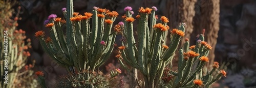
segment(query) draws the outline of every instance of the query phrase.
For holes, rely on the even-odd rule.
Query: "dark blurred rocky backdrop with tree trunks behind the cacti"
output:
[[[20,6],[18,29],[26,31],[31,39],[31,56],[35,60],[35,71],[45,71],[46,81],[53,85],[60,75],[67,74],[44,53],[35,32],[49,29],[44,21],[50,14],[63,17],[61,9],[66,7],[66,0],[20,0],[13,7],[17,12]],[[227,77],[222,78],[213,87],[256,87],[256,1],[255,0],[74,0],[74,12],[91,12],[93,7],[106,8],[119,13],[114,24],[121,21],[124,8],[131,6],[134,17],[140,7],[158,8],[158,17],[166,16],[170,28],[177,28],[180,22],[186,23],[186,35],[190,45],[195,45],[197,35],[205,29],[205,41],[213,49],[209,53],[210,62],[218,61],[227,70]],[[15,14],[15,13],[13,13]],[[135,25],[136,26],[136,25]],[[117,37],[117,46],[119,39]],[[184,43],[184,39],[182,41]],[[173,61],[174,65],[177,61]],[[115,53],[100,70],[104,73],[119,68]],[[211,67],[208,64],[207,67]],[[121,68],[121,67],[120,67]],[[175,69],[174,69],[175,70]],[[123,71],[123,76],[127,73]],[[129,80],[129,79],[127,79]]]

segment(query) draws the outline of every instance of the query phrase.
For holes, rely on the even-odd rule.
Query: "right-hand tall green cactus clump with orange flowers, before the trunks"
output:
[[[186,41],[184,49],[179,50],[178,72],[170,71],[173,76],[169,75],[162,78],[164,68],[172,62],[180,39],[185,35],[185,23],[181,23],[178,29],[174,28],[170,31],[170,41],[167,43],[165,41],[169,27],[166,24],[169,21],[165,16],[162,16],[160,18],[161,23],[156,23],[156,10],[156,7],[152,7],[152,9],[139,8],[139,15],[136,16],[139,21],[137,27],[138,41],[135,41],[134,37],[133,21],[135,19],[132,17],[131,11],[126,10],[123,16],[122,46],[119,47],[120,53],[116,57],[122,58],[129,66],[140,70],[144,76],[144,84],[139,86],[158,87],[159,82],[164,79],[165,82],[172,80],[168,87],[198,87],[202,85],[202,80],[205,86],[209,86],[219,79],[221,74],[215,79],[210,78],[211,73],[202,76],[202,68],[208,62],[207,55],[211,49],[211,46],[204,42],[203,34],[199,36],[200,40],[194,49],[189,49],[188,40]],[[122,66],[126,67],[121,59],[119,61]],[[221,72],[225,74],[224,70]],[[193,81],[197,85],[191,84]]]

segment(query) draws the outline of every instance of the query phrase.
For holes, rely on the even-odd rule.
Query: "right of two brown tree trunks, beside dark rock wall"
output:
[[[201,1],[201,22],[200,27],[205,28],[205,41],[212,46],[209,52],[209,63],[206,64],[211,69],[215,58],[215,46],[217,43],[219,22],[220,22],[220,0],[203,0]]]

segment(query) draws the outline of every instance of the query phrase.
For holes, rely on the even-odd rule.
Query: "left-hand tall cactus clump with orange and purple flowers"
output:
[[[115,31],[111,29],[118,13],[94,7],[92,13],[80,15],[73,12],[72,0],[67,1],[67,8],[62,11],[66,18],[56,18],[52,14],[45,21],[50,37],[45,40],[42,31],[36,32],[35,37],[46,53],[69,72],[94,71],[104,64],[113,50],[118,25]]]

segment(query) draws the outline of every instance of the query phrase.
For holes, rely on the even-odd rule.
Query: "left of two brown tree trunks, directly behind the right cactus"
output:
[[[193,17],[195,16],[195,3],[197,0],[172,0],[166,1],[166,12],[163,12],[163,15],[169,18],[169,27],[178,28],[181,22],[184,22],[185,25],[185,38],[190,38],[190,34],[193,32]],[[167,37],[168,38],[168,37]],[[182,44],[184,42],[181,42]]]

